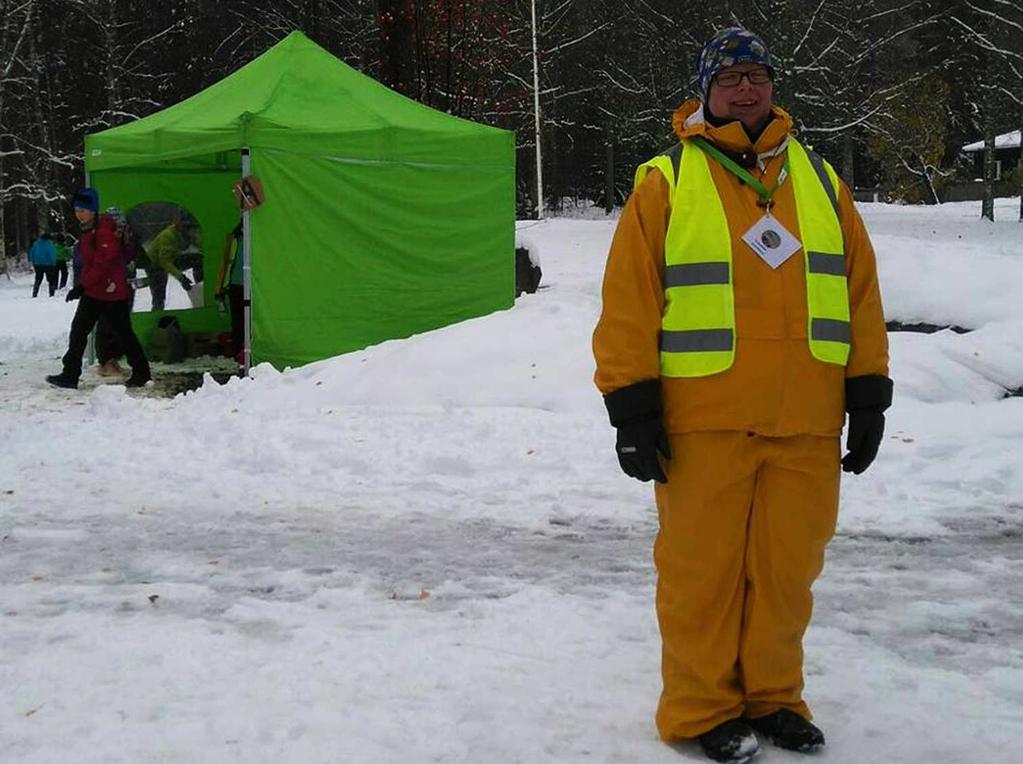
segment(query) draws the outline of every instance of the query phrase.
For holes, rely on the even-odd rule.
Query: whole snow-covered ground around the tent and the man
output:
[[[1023,759],[1016,205],[862,208],[888,317],[973,331],[892,335],[814,761]],[[703,761],[656,738],[656,515],[590,383],[613,225],[520,224],[510,311],[174,399],[43,385],[74,306],[0,276],[0,760]]]

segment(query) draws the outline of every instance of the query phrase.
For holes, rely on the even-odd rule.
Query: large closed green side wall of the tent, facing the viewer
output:
[[[256,361],[304,364],[511,306],[514,169],[255,149],[252,169],[267,194],[251,213]]]

